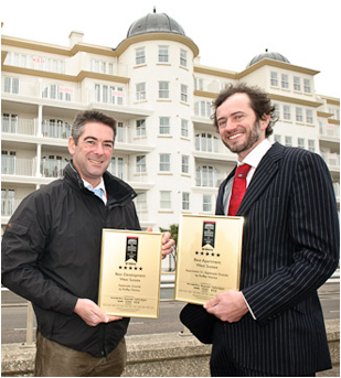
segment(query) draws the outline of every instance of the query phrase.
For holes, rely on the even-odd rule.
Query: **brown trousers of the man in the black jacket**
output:
[[[94,357],[36,336],[35,377],[119,377],[126,366],[127,348],[122,338],[107,357]]]

